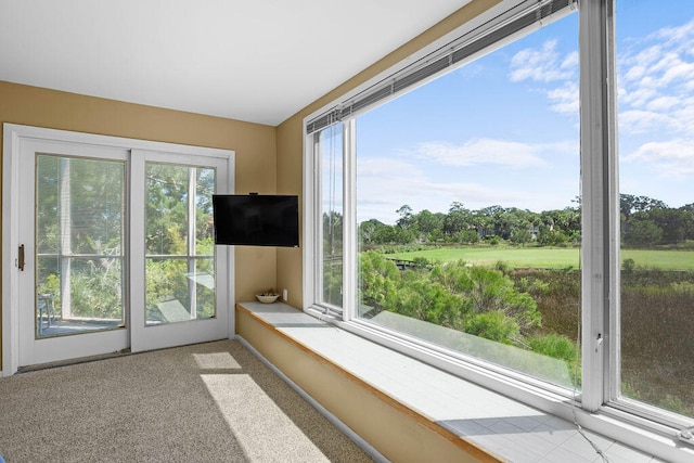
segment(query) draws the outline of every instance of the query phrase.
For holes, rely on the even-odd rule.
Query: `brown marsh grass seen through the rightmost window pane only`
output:
[[[694,272],[622,272],[622,393],[694,416]]]

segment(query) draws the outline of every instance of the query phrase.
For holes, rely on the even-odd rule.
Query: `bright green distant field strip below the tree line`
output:
[[[475,265],[493,265],[503,260],[511,267],[566,268],[579,267],[579,249],[551,247],[462,247],[388,254],[386,257],[412,260],[424,257],[429,260],[465,260]],[[621,260],[631,258],[639,267],[663,270],[694,271],[692,250],[625,249]]]

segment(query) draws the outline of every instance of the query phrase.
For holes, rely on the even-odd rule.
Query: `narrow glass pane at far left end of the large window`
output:
[[[335,124],[317,136],[321,167],[322,303],[343,307],[343,125]]]

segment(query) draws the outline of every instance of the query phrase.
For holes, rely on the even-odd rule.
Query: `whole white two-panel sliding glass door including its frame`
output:
[[[39,136],[11,132],[4,164],[11,372],[229,337],[211,197],[231,191],[231,152],[14,127]]]

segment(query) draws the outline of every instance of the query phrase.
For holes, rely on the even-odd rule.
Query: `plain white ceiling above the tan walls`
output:
[[[0,80],[275,126],[470,0],[0,0]]]

